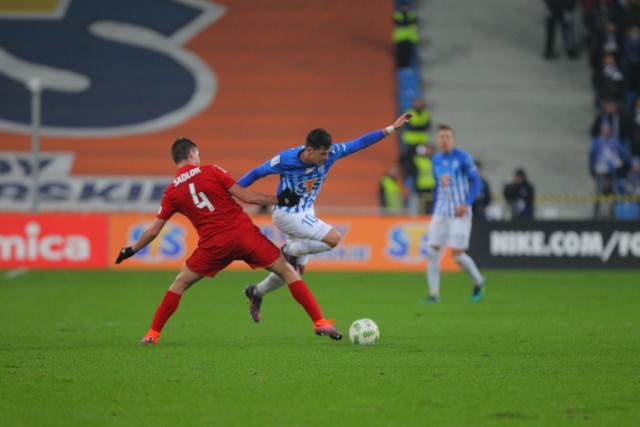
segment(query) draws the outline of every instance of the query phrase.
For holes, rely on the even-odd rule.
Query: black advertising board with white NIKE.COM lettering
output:
[[[640,223],[477,220],[469,254],[484,268],[640,269]]]

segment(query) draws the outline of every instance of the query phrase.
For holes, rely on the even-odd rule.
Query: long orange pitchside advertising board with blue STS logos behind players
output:
[[[131,245],[153,218],[153,215],[111,215],[109,256],[115,260],[120,248]],[[322,219],[338,229],[343,238],[337,248],[311,257],[309,268],[312,270],[425,269],[429,217],[322,216]],[[286,236],[273,225],[270,216],[257,216],[253,220],[277,246],[284,243]],[[193,252],[197,241],[198,236],[189,221],[176,215],[148,248],[118,268],[177,269]],[[249,267],[242,262],[235,262],[229,268]],[[449,251],[443,257],[442,269],[459,269]]]

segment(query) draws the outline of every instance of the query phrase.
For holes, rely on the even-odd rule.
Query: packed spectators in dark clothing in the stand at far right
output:
[[[589,64],[598,109],[591,128],[590,156],[596,193],[635,195],[633,169],[640,161],[635,149],[640,123],[636,105],[640,94],[640,2],[585,1],[582,13],[588,29]],[[612,148],[607,150],[607,146]],[[603,159],[609,152],[612,155],[607,157],[615,157],[615,161]],[[602,172],[604,168],[609,169],[607,173]],[[640,219],[637,202],[615,201],[606,212],[600,205],[597,200],[596,219]]]

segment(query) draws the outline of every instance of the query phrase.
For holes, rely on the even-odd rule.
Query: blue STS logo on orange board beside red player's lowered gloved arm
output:
[[[148,225],[148,223],[139,223],[129,229],[127,241],[130,245],[138,240]],[[160,235],[151,244],[136,253],[136,258],[139,261],[154,264],[164,261],[179,261],[185,253],[186,235],[187,231],[181,225],[167,222]]]

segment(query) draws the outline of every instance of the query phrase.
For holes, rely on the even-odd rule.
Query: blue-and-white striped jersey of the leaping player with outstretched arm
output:
[[[300,202],[290,208],[286,206],[277,206],[276,208],[286,212],[302,212],[313,207],[313,203],[318,193],[320,193],[320,188],[322,188],[327,173],[336,161],[356,151],[367,148],[382,138],[384,138],[384,133],[382,130],[378,130],[354,139],[353,141],[333,144],[329,152],[329,157],[320,166],[303,163],[300,160],[300,152],[304,150],[304,146],[290,148],[249,171],[238,180],[238,184],[243,187],[249,187],[260,178],[271,174],[279,174],[280,184],[278,185],[278,193],[285,188],[290,188],[300,196]]]

